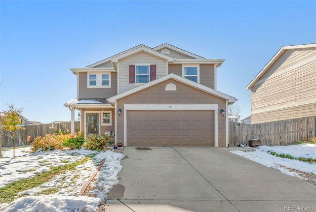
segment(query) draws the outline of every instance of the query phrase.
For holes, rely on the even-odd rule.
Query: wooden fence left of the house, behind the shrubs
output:
[[[75,121],[75,131],[79,130],[80,121]],[[27,142],[27,137],[31,137],[31,141],[37,136],[45,136],[46,134],[57,133],[59,129],[62,132],[71,129],[71,121],[65,122],[55,122],[55,123],[44,123],[44,124],[34,124],[26,125],[25,130],[18,129],[15,134],[15,146],[30,145]],[[13,133],[2,132],[1,136],[1,147],[13,147]]]

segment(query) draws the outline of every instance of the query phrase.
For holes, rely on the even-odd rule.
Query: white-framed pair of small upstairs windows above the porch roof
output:
[[[88,73],[88,88],[111,88],[111,73]]]

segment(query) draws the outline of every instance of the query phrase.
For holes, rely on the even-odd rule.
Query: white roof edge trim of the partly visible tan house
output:
[[[304,45],[293,45],[293,46],[282,46],[278,52],[273,56],[273,58],[265,65],[265,67],[257,74],[257,76],[249,83],[249,85],[246,87],[246,90],[250,90],[251,87],[253,87],[257,81],[260,80],[260,78],[268,71],[268,69],[274,64],[274,62],[277,61],[277,59],[286,51],[289,49],[302,49],[302,48],[315,48],[316,43],[312,44],[304,44]]]

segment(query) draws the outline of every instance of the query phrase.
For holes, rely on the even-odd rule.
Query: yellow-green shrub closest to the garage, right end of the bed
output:
[[[109,136],[107,135],[89,135],[86,137],[83,147],[87,150],[104,150],[109,146]]]

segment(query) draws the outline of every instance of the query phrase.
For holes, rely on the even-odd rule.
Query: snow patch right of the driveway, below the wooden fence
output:
[[[316,164],[302,162],[295,159],[281,158],[274,156],[268,151],[275,151],[278,154],[290,154],[293,157],[312,157],[316,159],[316,145],[315,144],[298,144],[298,145],[289,145],[289,146],[259,146],[256,151],[231,151],[235,154],[238,154],[247,159],[253,160],[257,163],[265,165],[267,167],[276,169],[284,174],[291,175],[297,178],[302,178],[296,172],[291,172],[286,169],[286,167],[290,169],[295,169],[298,171],[306,172],[309,174],[316,174]]]

